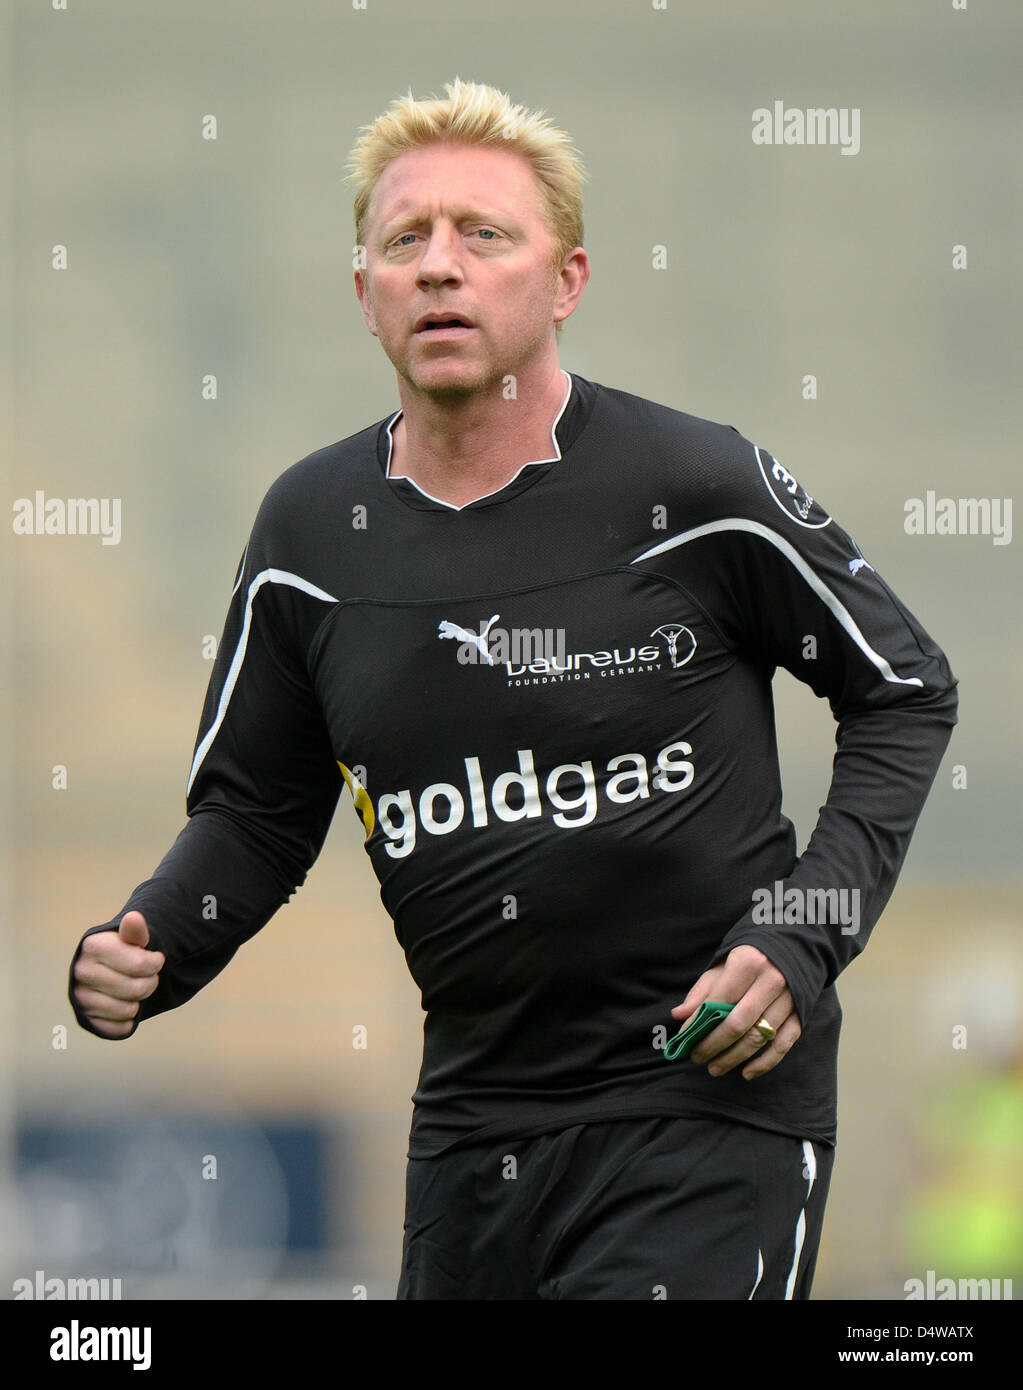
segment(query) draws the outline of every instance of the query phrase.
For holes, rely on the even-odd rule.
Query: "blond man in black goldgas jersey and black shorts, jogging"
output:
[[[399,1297],[805,1298],[834,979],[955,680],[771,455],[559,367],[589,275],[562,132],[456,81],[367,128],[353,177],[402,409],[264,499],[189,823],[83,938],[79,1022],[125,1037],[211,980],[346,784],[427,1011]],[[802,856],[778,664],[838,720]],[[669,1061],[703,1001],[733,1008]]]

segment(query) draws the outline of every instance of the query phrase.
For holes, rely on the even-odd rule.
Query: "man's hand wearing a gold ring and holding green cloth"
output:
[[[784,974],[756,947],[735,947],[721,965],[706,970],[671,1009],[671,1017],[688,1019],[705,999],[735,1005],[689,1054],[692,1062],[710,1062],[707,1072],[712,1076],[723,1076],[756,1054],[742,1070],[745,1080],[752,1081],[777,1066],[802,1033]],[[755,1027],[760,1019],[767,1019],[774,1029],[770,1042]]]

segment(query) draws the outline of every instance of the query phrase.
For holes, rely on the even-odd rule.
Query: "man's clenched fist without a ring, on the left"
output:
[[[117,931],[95,931],[82,942],[75,1004],[104,1037],[128,1037],[139,1004],[160,983],[165,958],[147,945],[149,927],[140,912],[125,912]]]

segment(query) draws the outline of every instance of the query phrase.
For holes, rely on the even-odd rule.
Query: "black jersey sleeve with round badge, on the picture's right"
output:
[[[696,524],[648,563],[669,567],[673,550],[694,546],[699,596],[728,644],[769,678],[788,670],[837,720],[831,784],[803,853],[752,895],[707,962],[758,947],[805,1024],[891,897],[956,723],[956,680],[855,541],[777,459],[738,439]]]

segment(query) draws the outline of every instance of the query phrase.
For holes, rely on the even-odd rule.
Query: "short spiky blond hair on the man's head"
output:
[[[582,181],[587,172],[578,150],[541,111],[513,106],[512,99],[482,82],[445,82],[446,100],[396,97],[361,135],[349,154],[346,182],[356,189],[356,242],[366,245],[370,200],[388,164],[407,150],[441,140],[498,145],[516,150],[532,165],[543,195],[546,222],[555,239],[555,265],[582,245]],[[560,327],[560,325],[559,325]]]

